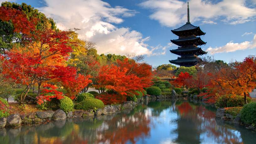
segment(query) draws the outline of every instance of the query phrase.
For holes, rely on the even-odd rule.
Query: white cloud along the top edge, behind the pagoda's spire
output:
[[[203,0],[190,0],[190,21],[212,21],[221,19],[228,24],[241,24],[251,21],[256,16],[255,8],[245,6],[246,0],[222,0],[217,3]],[[147,0],[139,4],[151,9],[151,19],[173,27],[187,20],[187,3],[180,0]]]

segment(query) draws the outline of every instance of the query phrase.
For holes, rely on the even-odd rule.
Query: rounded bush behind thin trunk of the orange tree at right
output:
[[[250,103],[251,99],[247,97],[247,102]],[[244,97],[241,95],[232,96],[227,100],[227,107],[242,107],[244,105]]]

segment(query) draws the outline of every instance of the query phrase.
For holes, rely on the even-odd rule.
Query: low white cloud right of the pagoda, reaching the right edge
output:
[[[233,41],[228,42],[224,46],[220,47],[209,47],[206,51],[209,54],[215,54],[215,53],[223,53],[223,52],[233,52],[237,50],[245,50],[245,49],[253,49],[256,48],[256,35],[253,36],[252,41],[244,41],[242,43],[234,43]]]

